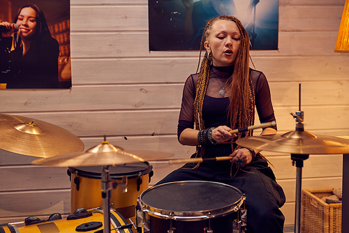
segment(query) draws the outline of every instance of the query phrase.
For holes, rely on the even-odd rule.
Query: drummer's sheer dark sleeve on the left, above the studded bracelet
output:
[[[181,112],[179,113],[177,137],[186,128],[194,128],[194,100],[198,74],[191,75],[186,79],[181,99]]]

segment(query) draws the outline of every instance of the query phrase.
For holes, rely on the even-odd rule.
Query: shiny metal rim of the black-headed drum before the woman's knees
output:
[[[209,210],[203,210],[203,211],[171,211],[168,209],[159,209],[154,206],[151,206],[147,203],[145,203],[142,200],[142,197],[146,195],[147,193],[151,192],[151,190],[155,190],[156,188],[161,188],[163,186],[170,186],[173,183],[212,183],[215,185],[225,186],[232,190],[237,191],[239,193],[240,198],[236,202],[232,204],[228,204],[226,206],[221,206],[218,209],[209,209]],[[142,206],[141,209],[144,212],[149,213],[149,215],[154,216],[156,218],[163,218],[163,219],[174,219],[174,220],[182,220],[182,221],[191,221],[191,220],[199,220],[199,219],[208,219],[208,218],[217,218],[217,217],[223,217],[227,216],[228,214],[232,212],[236,212],[240,209],[240,206],[244,203],[244,200],[246,197],[242,193],[241,190],[238,188],[235,188],[234,186],[230,186],[226,183],[220,183],[215,181],[173,181],[168,183],[162,183],[158,186],[152,186],[151,188],[147,188],[147,190],[144,190],[140,197],[138,197],[138,202]]]

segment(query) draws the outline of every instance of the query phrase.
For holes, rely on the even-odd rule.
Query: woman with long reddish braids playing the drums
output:
[[[188,180],[227,183],[246,195],[247,232],[283,232],[284,216],[279,208],[285,195],[274,173],[260,151],[234,143],[245,135],[229,133],[253,125],[255,108],[261,123],[275,120],[265,75],[249,68],[248,34],[236,17],[221,15],[210,20],[204,40],[207,52],[200,73],[190,75],[184,86],[178,138],[181,144],[197,146],[193,156],[232,156],[232,160],[188,163],[157,184]],[[276,126],[262,130],[262,135],[275,133]]]

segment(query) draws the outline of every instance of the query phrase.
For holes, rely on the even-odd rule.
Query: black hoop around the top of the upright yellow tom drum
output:
[[[135,171],[135,172],[124,172],[124,173],[111,173],[110,174],[110,179],[122,179],[124,176],[127,176],[128,179],[133,179],[139,176],[144,176],[146,174],[149,174],[151,170],[153,170],[153,166],[150,165],[149,162],[145,161],[143,162],[147,165],[147,167],[144,167],[143,170]],[[85,178],[90,178],[90,179],[101,179],[102,174],[101,173],[96,173],[96,172],[88,172],[84,170],[80,170],[77,167],[68,167],[68,170],[71,174],[75,174],[77,176],[82,176]],[[102,172],[102,169],[101,169]]]

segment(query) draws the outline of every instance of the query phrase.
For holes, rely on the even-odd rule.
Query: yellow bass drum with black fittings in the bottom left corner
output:
[[[103,229],[104,216],[103,211],[94,213],[79,214],[76,217],[68,216],[65,219],[46,221],[33,225],[0,225],[0,232],[4,233],[70,233],[70,232],[96,232]],[[117,211],[111,211],[110,229],[119,227],[121,233],[132,233],[131,225]],[[125,227],[125,228],[124,228]],[[124,228],[124,229],[121,229]]]

